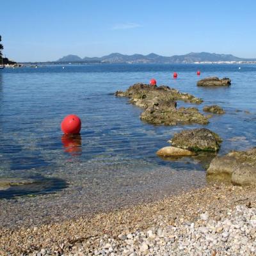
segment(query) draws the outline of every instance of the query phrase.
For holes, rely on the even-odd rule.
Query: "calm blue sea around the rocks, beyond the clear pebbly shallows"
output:
[[[200,159],[166,161],[156,151],[168,146],[174,132],[187,126],[154,126],[141,122],[141,109],[125,98],[113,95],[134,83],[154,77],[157,84],[192,93],[204,102],[196,106],[218,104],[225,115],[214,115],[205,127],[223,138],[219,154],[255,146],[256,130],[256,65],[66,65],[38,68],[5,68],[0,71],[0,179],[35,179],[44,188],[62,189],[70,180],[60,170],[65,166],[94,164],[102,170],[120,166],[127,173],[148,172],[157,166],[176,170],[204,170]],[[196,76],[196,70],[201,76]],[[172,79],[172,72],[178,79]],[[207,76],[229,77],[230,88],[200,88],[196,81]],[[179,102],[179,106],[192,106]],[[246,112],[244,112],[246,111]],[[248,113],[249,111],[249,113]],[[81,136],[64,138],[61,120],[70,113],[81,118]],[[77,167],[78,168],[78,167]],[[141,171],[142,170],[142,171]],[[69,171],[72,172],[72,171]],[[72,173],[69,173],[72,176]],[[117,174],[116,174],[117,175]],[[127,174],[129,177],[129,174]],[[56,182],[56,179],[60,179]],[[10,191],[10,189],[9,189]],[[6,197],[5,192],[0,197]],[[38,193],[42,189],[24,187],[22,193]],[[21,195],[17,193],[16,195]],[[15,195],[12,188],[10,196]]]

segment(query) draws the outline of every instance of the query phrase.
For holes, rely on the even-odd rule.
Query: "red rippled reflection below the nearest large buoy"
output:
[[[61,142],[64,152],[72,156],[80,156],[82,153],[82,138],[80,134],[63,134]]]

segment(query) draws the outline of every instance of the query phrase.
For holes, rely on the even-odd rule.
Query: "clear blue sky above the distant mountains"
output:
[[[256,58],[256,1],[1,0],[0,35],[15,61],[111,52],[216,52]]]

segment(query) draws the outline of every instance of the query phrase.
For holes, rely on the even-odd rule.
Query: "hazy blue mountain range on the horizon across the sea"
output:
[[[56,63],[195,63],[195,62],[219,62],[219,61],[256,61],[256,59],[238,58],[232,54],[216,54],[209,52],[190,52],[184,55],[173,55],[170,57],[150,53],[148,55],[133,54],[125,55],[111,53],[102,57],[84,57],[67,55]]]

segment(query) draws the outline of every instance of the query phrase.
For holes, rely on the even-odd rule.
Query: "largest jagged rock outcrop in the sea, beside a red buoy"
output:
[[[196,108],[178,108],[176,100],[200,104],[198,99],[189,93],[180,93],[168,86],[150,86],[149,84],[134,84],[125,92],[116,92],[118,97],[129,97],[130,102],[145,109],[141,120],[150,124],[207,124],[207,117]]]

